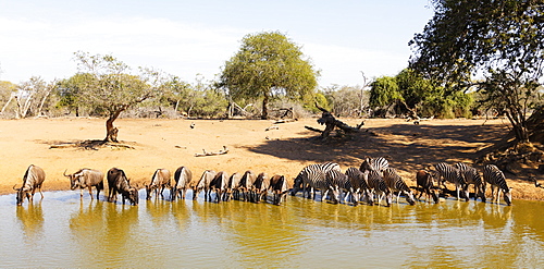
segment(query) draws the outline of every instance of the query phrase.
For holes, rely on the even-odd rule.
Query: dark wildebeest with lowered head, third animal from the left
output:
[[[128,199],[135,206],[138,205],[138,189],[131,186],[131,182],[123,170],[112,168],[108,171],[108,188],[109,201],[118,200],[118,193],[120,193],[123,198],[123,205],[125,204],[125,199]]]

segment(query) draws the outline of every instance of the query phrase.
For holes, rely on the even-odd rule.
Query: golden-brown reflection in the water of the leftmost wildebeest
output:
[[[41,201],[37,204],[29,203],[26,208],[25,206],[17,206],[16,215],[27,243],[32,243],[41,237],[44,233],[44,210],[41,209]]]

